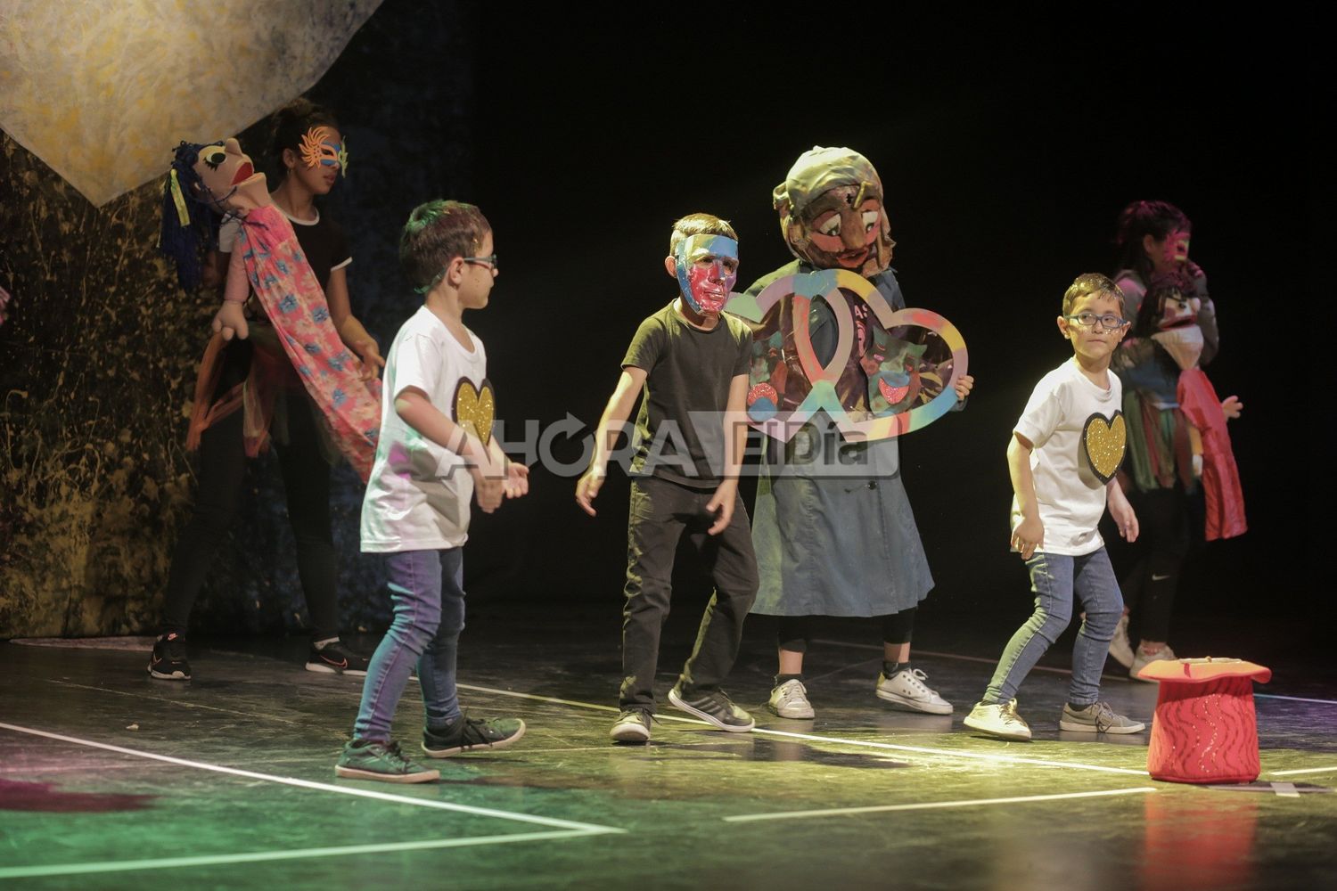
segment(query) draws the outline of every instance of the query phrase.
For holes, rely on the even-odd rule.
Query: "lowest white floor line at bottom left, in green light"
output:
[[[221,866],[227,863],[266,863],[271,860],[301,860],[310,858],[337,858],[358,854],[392,854],[397,851],[433,851],[511,842],[550,842],[579,839],[603,832],[587,830],[551,830],[548,832],[515,832],[512,835],[479,835],[464,839],[432,839],[428,842],[388,842],[385,844],[356,844],[345,848],[294,848],[291,851],[251,851],[246,854],[214,854],[191,858],[160,858],[152,860],[103,860],[100,863],[57,863],[51,866],[0,867],[0,879],[33,879],[52,875],[90,875],[98,872],[132,872],[138,870],[179,870],[185,867]]]

